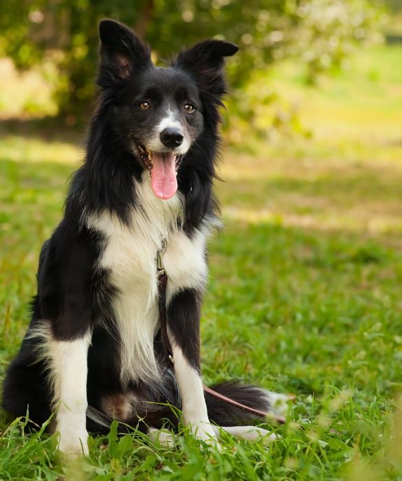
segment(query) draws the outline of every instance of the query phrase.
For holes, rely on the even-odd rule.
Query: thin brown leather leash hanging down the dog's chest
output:
[[[168,317],[166,313],[166,289],[168,286],[168,275],[166,274],[166,271],[165,271],[163,256],[166,252],[167,245],[168,245],[167,238],[162,237],[161,247],[160,249],[157,249],[157,254],[155,258],[156,269],[157,269],[159,327],[161,330],[162,343],[164,344],[166,358],[168,359],[170,365],[172,366],[172,369],[175,370],[175,360],[173,359],[172,346],[170,344],[169,337],[168,337],[168,326],[167,326]],[[281,424],[283,424],[286,421],[283,416],[278,416],[277,414],[273,414],[272,412],[260,411],[260,410],[254,409],[254,407],[249,407],[249,406],[246,406],[245,404],[238,403],[237,401],[234,401],[234,399],[230,399],[229,397],[224,396],[223,394],[220,394],[219,392],[216,392],[211,388],[208,388],[208,386],[206,385],[203,385],[203,390],[206,394],[210,394],[210,396],[213,396],[214,398],[219,399],[220,401],[223,401],[227,404],[238,407],[244,411],[249,412],[250,414],[255,414],[260,418],[271,418],[271,419],[274,419],[275,421],[278,421],[278,423],[281,423]]]

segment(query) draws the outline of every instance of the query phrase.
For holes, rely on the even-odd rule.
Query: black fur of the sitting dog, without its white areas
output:
[[[237,47],[221,41],[205,41],[181,52],[172,66],[159,69],[150,60],[150,49],[129,30],[113,21],[100,23],[99,104],[91,120],[87,154],[71,181],[63,220],[45,242],[38,268],[38,293],[32,302],[32,319],[19,354],[12,361],[3,385],[3,407],[16,416],[41,425],[51,414],[52,393],[46,381],[47,366],[38,360],[41,339],[30,336],[46,320],[54,339],[71,341],[89,330],[92,344],[88,353],[88,427],[102,431],[110,418],[102,412],[104,396],[131,390],[144,401],[168,401],[181,407],[172,374],[166,370],[161,385],[130,383],[119,378],[118,333],[113,335],[111,301],[119,293],[109,284],[109,273],[96,269],[105,240],[102,234],[82,222],[84,216],[107,210],[122,223],[137,205],[133,180],[141,180],[146,166],[134,148],[145,144],[156,118],[166,109],[166,99],[180,107],[190,100],[194,115],[179,109],[186,122],[192,145],[178,172],[178,188],[185,199],[183,230],[192,236],[205,217],[217,213],[212,193],[216,153],[219,146],[219,109],[226,92],[223,58]],[[144,99],[153,102],[153,112],[137,108]],[[156,116],[156,117],[155,117]],[[199,319],[202,289],[186,289],[168,306],[168,322],[184,355],[199,370]],[[106,320],[107,326],[100,322]],[[105,322],[105,321],[104,321]],[[112,335],[111,335],[112,334]],[[155,337],[155,353],[164,364],[160,333]],[[265,409],[266,401],[256,388],[238,384],[216,387],[233,399]],[[249,421],[241,410],[206,396],[212,421],[220,425]],[[96,415],[95,415],[95,414]],[[177,422],[166,407],[139,405],[132,419],[137,425],[159,425],[164,417]],[[100,419],[104,423],[100,423]],[[96,421],[96,419],[98,421]]]

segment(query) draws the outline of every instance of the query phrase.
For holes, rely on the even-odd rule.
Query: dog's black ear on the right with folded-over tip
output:
[[[234,43],[221,40],[205,40],[194,47],[182,50],[175,65],[189,71],[204,91],[210,91],[217,96],[225,93],[223,79],[224,58],[230,57],[238,51]]]

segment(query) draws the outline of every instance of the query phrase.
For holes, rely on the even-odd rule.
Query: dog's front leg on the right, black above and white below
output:
[[[216,433],[210,425],[201,381],[200,308],[201,293],[195,289],[180,291],[170,302],[168,327],[183,421],[197,437],[210,440],[216,438]]]

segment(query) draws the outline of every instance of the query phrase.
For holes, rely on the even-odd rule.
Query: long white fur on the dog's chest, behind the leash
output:
[[[113,311],[120,332],[124,383],[159,376],[153,339],[159,316],[155,256],[161,237],[168,239],[164,254],[168,302],[180,289],[202,289],[207,277],[205,233],[196,232],[190,239],[177,227],[182,206],[179,194],[169,201],[157,199],[147,174],[137,192],[141,207],[133,210],[129,226],[109,212],[87,219],[90,227],[106,237],[99,264],[109,269],[109,282],[118,289]]]

